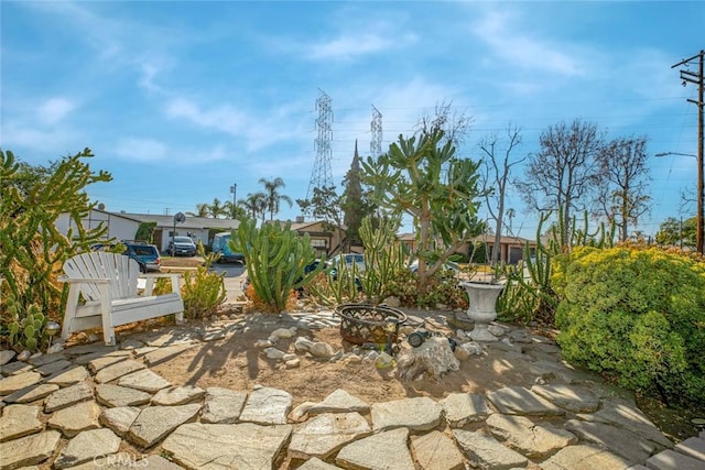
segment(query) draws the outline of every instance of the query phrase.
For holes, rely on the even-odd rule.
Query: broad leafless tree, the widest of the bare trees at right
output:
[[[563,207],[561,244],[570,243],[574,210],[590,205],[590,192],[599,174],[597,156],[604,145],[597,125],[578,119],[550,125],[539,139],[541,150],[529,156],[523,179],[514,184],[535,210]]]

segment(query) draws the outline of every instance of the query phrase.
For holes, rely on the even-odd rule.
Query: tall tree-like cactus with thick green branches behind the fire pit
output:
[[[426,292],[443,263],[482,231],[476,201],[481,197],[479,163],[456,159],[452,141],[436,127],[409,139],[399,135],[387,154],[368,157],[362,167],[364,182],[375,188],[382,208],[413,217],[419,233],[414,254],[423,261],[419,289]]]

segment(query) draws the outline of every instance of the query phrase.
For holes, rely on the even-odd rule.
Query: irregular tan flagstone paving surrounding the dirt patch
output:
[[[297,342],[310,349],[317,345],[343,367],[375,367],[364,360],[366,351],[334,351],[288,328],[338,326],[339,319],[324,310],[224,317],[213,325],[135,334],[122,341],[123,349],[101,342],[72,347],[35,354],[31,363],[6,353],[0,468],[671,470],[705,464],[705,431],[673,446],[632,400],[625,400],[629,394],[563,364],[552,340],[521,328],[498,326],[510,339],[484,348],[494,360],[542,371],[536,373],[541,384],[531,390],[507,386],[366,403],[339,389],[292,411],[293,397],[283,390],[256,385],[204,392],[172,384],[147,367],[188,354],[204,332],[227,338],[245,328],[262,331],[260,342],[270,347],[281,345],[280,337],[299,336]],[[276,335],[268,332],[276,328]],[[285,368],[304,353],[288,352],[280,372],[295,373]],[[118,452],[126,447],[139,453]]]

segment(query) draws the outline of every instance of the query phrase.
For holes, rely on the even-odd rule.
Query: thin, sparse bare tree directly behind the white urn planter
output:
[[[490,135],[480,142],[480,150],[486,159],[482,160],[484,172],[481,173],[485,201],[489,215],[495,220],[495,243],[490,261],[497,264],[501,249],[502,228],[505,221],[505,201],[507,197],[507,186],[510,183],[511,168],[522,163],[525,157],[510,161],[511,152],[521,144],[521,134],[516,127],[507,128],[507,143],[502,146],[499,138]],[[501,146],[501,149],[500,149]],[[502,153],[498,156],[497,153]],[[513,217],[513,212],[508,217]],[[510,229],[511,230],[511,229]]]

